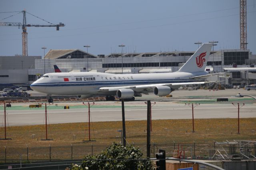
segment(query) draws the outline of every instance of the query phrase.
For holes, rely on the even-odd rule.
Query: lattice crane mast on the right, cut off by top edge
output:
[[[240,49],[247,49],[246,0],[240,0]]]

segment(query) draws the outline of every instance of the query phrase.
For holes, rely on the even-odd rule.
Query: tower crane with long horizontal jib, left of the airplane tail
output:
[[[27,24],[26,23],[26,10],[19,11],[19,13],[23,13],[23,24],[20,22],[0,22],[0,26],[18,26],[18,28],[22,27],[22,56],[28,56],[28,33],[27,33],[27,27],[56,27],[56,30],[60,30],[60,27],[64,27],[65,25],[61,22],[59,24],[52,24],[48,22],[51,25],[33,25],[33,24]],[[18,14],[19,14],[18,13]],[[30,14],[30,13],[28,13]],[[30,14],[34,16],[33,14]],[[14,15],[12,15],[14,16]],[[10,18],[11,16],[7,17]],[[39,18],[37,16],[34,16],[36,18]],[[4,18],[6,19],[6,18]],[[43,20],[42,18],[39,18]],[[46,20],[43,20],[46,21]],[[47,22],[47,21],[46,21]]]

